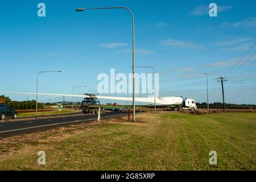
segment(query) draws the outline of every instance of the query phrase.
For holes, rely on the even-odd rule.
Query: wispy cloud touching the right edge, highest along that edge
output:
[[[256,17],[247,18],[245,20],[234,22],[234,23],[224,22],[221,24],[221,27],[245,27],[245,28],[256,27]]]

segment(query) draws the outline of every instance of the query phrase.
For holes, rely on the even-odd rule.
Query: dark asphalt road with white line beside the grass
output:
[[[127,113],[104,113],[101,114],[101,119],[113,118],[121,115],[127,115]],[[57,118],[31,119],[29,121],[2,122],[0,123],[0,138],[10,137],[17,134],[32,133],[34,131],[48,130],[54,127],[89,123],[97,118],[98,114],[83,114]]]

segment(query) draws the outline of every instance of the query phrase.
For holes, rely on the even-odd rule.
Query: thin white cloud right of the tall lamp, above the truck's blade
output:
[[[162,46],[170,46],[173,48],[203,48],[201,44],[194,43],[192,41],[184,42],[181,40],[173,40],[173,39],[167,39],[167,40],[162,40],[160,42]]]

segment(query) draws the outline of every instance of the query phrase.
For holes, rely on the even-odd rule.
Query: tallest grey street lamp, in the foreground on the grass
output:
[[[85,10],[101,10],[101,9],[125,9],[130,12],[131,18],[133,19],[133,122],[135,122],[135,78],[134,78],[134,64],[135,64],[135,44],[134,44],[134,15],[130,9],[127,7],[95,7],[95,8],[81,8],[75,11],[85,11]]]

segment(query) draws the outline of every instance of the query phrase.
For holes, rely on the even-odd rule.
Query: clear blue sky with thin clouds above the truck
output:
[[[37,15],[39,2],[46,5],[46,17]],[[208,15],[211,2],[0,1],[0,91],[35,92],[39,71],[61,70],[40,75],[39,92],[70,94],[73,86],[86,85],[75,93],[94,93],[99,73],[109,73],[110,68],[130,73],[130,14],[122,9],[75,12],[78,7],[126,6],[135,16],[135,65],[155,67],[161,96],[205,102],[206,82],[201,81],[207,72],[210,102],[222,101],[221,84],[211,79],[227,76],[226,102],[256,104],[256,64],[251,65],[256,55],[246,61],[256,46],[238,63],[256,41],[256,1],[214,1],[217,17]],[[231,73],[241,68],[229,77],[236,63]]]

